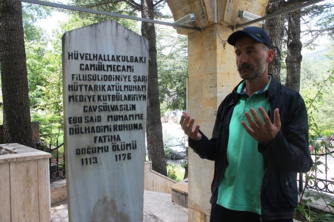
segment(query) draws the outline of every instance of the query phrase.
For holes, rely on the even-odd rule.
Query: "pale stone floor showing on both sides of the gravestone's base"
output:
[[[51,206],[51,222],[68,222],[67,201]],[[188,222],[188,209],[171,202],[171,195],[144,191],[144,222]]]

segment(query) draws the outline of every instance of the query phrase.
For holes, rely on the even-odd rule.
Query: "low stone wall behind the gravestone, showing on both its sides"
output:
[[[159,193],[171,194],[171,186],[176,181],[152,170],[152,161],[145,162],[144,190]],[[51,204],[66,200],[66,180],[51,183]]]

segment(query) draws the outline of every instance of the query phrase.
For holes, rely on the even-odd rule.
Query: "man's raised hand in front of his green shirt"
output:
[[[257,114],[254,108],[250,109],[250,112],[254,118],[251,117],[249,112],[245,112],[245,116],[249,122],[249,126],[245,121],[241,121],[241,124],[246,129],[246,131],[254,138],[256,141],[263,145],[268,145],[281,130],[281,118],[278,109],[274,111],[274,123],[271,123],[270,117],[263,107],[259,107],[259,111],[263,117],[264,123],[261,121],[260,116]]]

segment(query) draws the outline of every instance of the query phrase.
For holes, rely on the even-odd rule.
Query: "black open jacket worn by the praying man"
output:
[[[234,88],[220,104],[209,140],[202,132],[200,141],[189,138],[189,146],[201,157],[214,160],[210,203],[217,202],[218,187],[226,167],[229,124],[235,103]],[[308,142],[308,117],[299,93],[282,86],[273,77],[265,96],[270,103],[269,116],[279,108],[281,130],[268,146],[258,145],[263,154],[265,172],[261,186],[261,211],[265,220],[292,218],[298,202],[297,172],[308,172],[313,164]]]

